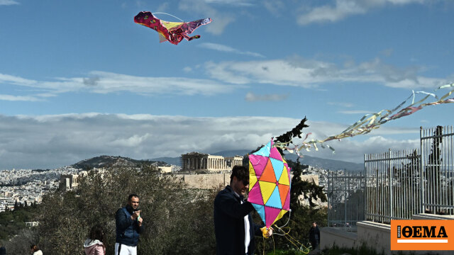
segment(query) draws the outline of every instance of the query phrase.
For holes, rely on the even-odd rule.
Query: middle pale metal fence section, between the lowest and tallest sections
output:
[[[421,210],[418,149],[366,154],[366,218],[374,222],[411,219]]]

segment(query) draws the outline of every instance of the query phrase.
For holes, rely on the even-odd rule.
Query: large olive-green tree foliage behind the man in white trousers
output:
[[[214,192],[206,196],[206,191],[184,188],[150,165],[91,172],[74,191],[43,198],[37,215],[38,246],[44,254],[84,254],[88,231],[99,223],[104,226],[107,254],[114,254],[115,212],[135,193],[145,225],[139,254],[214,254]]]

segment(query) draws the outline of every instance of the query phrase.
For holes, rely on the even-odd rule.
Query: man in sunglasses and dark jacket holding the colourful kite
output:
[[[244,201],[249,189],[249,171],[244,166],[234,166],[230,185],[218,193],[214,200],[214,232],[216,254],[254,254],[254,235],[262,235],[260,226],[250,216],[254,207]],[[272,231],[268,232],[270,236]]]

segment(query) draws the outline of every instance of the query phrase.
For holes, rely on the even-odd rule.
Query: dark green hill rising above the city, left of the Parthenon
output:
[[[120,156],[99,156],[93,157],[91,159],[84,159],[76,164],[72,164],[71,166],[77,169],[92,169],[92,168],[101,168],[107,166],[138,166],[145,162],[151,163],[155,166],[166,166],[166,162],[162,161],[150,161],[150,160],[138,160],[138,159],[130,159],[128,157],[120,157]]]

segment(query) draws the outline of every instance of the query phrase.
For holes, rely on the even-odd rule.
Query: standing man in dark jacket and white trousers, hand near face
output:
[[[128,205],[115,214],[116,239],[115,255],[136,255],[140,233],[143,232],[143,219],[140,217],[139,197],[131,194]]]

